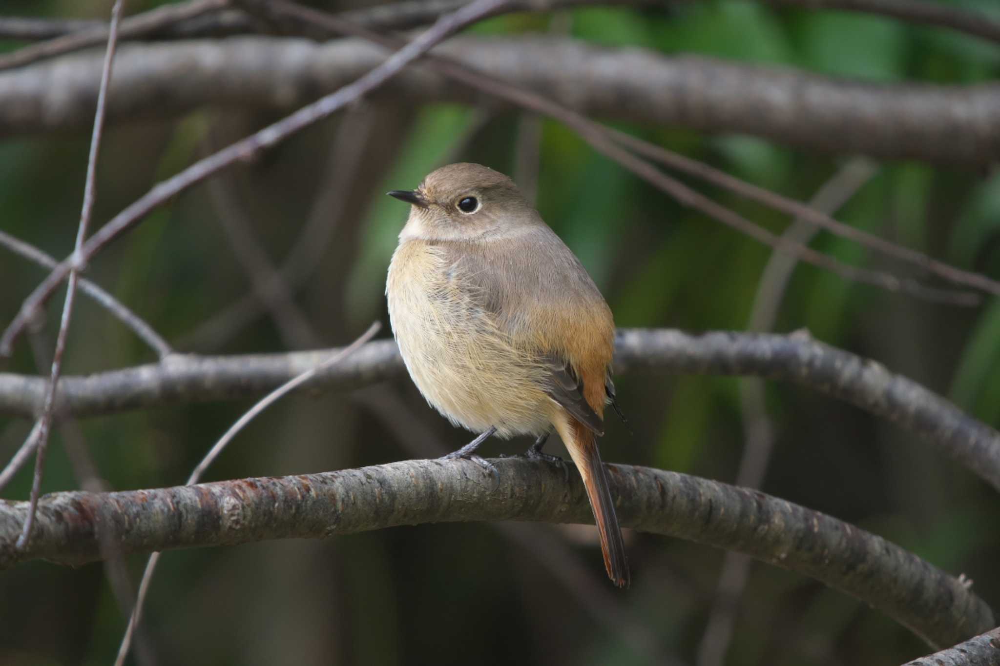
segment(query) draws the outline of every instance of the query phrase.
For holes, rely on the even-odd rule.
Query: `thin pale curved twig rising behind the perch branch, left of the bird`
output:
[[[236,422],[233,423],[228,430],[226,430],[226,433],[223,434],[217,442],[215,442],[215,445],[208,450],[205,457],[201,459],[201,462],[199,462],[194,468],[194,471],[191,472],[186,485],[194,485],[197,483],[201,479],[201,475],[205,473],[205,470],[208,469],[217,457],[219,457],[229,442],[233,440],[233,437],[235,437],[247,423],[264,411],[264,409],[267,409],[283,396],[294,390],[297,386],[300,386],[311,379],[316,375],[316,373],[336,365],[341,360],[357,351],[365,342],[370,340],[375,333],[378,333],[380,328],[381,325],[378,322],[375,322],[368,327],[368,330],[365,333],[362,333],[360,337],[348,344],[346,347],[337,351],[319,365],[311,367],[291,380],[286,381],[264,396],[264,398],[259,402],[254,404],[246,411],[246,413],[240,416]],[[146,594],[149,591],[149,584],[153,579],[153,572],[156,570],[156,563],[159,561],[159,555],[159,552],[153,553],[153,555],[149,558],[149,561],[146,562],[146,568],[142,572],[142,581],[139,583],[139,595],[136,597],[135,607],[132,610],[131,617],[129,617],[128,627],[125,629],[125,635],[122,637],[121,646],[118,648],[118,657],[115,660],[115,666],[121,666],[121,664],[124,664],[125,657],[128,656],[129,647],[132,644],[132,635],[135,633],[139,620],[142,617],[143,602],[146,600]]]

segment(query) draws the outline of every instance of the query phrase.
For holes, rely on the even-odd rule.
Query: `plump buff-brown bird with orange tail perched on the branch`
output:
[[[553,428],[583,478],[608,576],[628,585],[621,529],[597,450],[614,400],[611,310],[576,256],[509,178],[452,164],[416,190],[392,256],[386,296],[414,383],[452,423],[481,433],[449,457],[475,455],[489,436]]]

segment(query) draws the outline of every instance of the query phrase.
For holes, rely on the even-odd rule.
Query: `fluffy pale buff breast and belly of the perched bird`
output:
[[[545,367],[497,330],[491,315],[440,248],[408,241],[386,283],[389,320],[413,382],[434,408],[475,432],[541,434],[555,402]]]

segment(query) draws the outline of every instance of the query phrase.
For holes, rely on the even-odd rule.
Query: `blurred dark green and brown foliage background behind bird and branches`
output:
[[[127,9],[155,4],[132,0]],[[998,15],[993,0],[955,4]],[[53,18],[106,20],[109,9],[105,0],[0,3],[3,14]],[[958,33],[735,0],[516,14],[470,32],[549,33],[873,83],[975,84],[1000,73],[997,45]],[[22,46],[0,44],[7,51]],[[281,115],[206,108],[180,119],[111,124],[94,228],[158,180]],[[1000,278],[1000,175],[990,171],[859,162],[747,136],[615,126],[799,200],[841,178],[835,182],[846,203],[838,219]],[[88,142],[87,131],[0,141],[0,229],[66,256]],[[489,165],[536,193],[542,216],[580,257],[619,327],[750,328],[770,249],[682,208],[557,123],[488,107],[400,104],[385,95],[156,211],[104,252],[89,277],[184,351],[340,345],[376,320],[386,336],[385,273],[407,211],[384,193],[413,188],[427,172],[455,161]],[[845,169],[860,174],[850,185]],[[723,191],[702,191],[776,233],[790,222]],[[911,275],[829,235],[812,246],[845,262]],[[261,275],[261,260],[289,267],[283,275],[290,301],[268,308],[253,298],[250,276]],[[14,317],[43,276],[0,250],[0,321]],[[765,298],[776,309],[774,331],[806,328],[1000,424],[996,300],[975,308],[934,305],[808,266],[795,268],[787,290]],[[53,300],[39,333],[49,350],[61,303]],[[88,299],[78,301],[66,358],[70,374],[156,360]],[[26,341],[8,369],[37,372]],[[745,428],[761,413],[748,406],[754,400],[741,404],[740,382],[619,374],[618,397],[634,434],[609,418],[604,459],[734,482]],[[984,482],[912,433],[845,403],[779,383],[767,383],[762,395],[774,434],[766,492],[965,573],[987,602],[1000,602],[1000,501]],[[79,430],[110,486],[174,485],[250,404],[126,412],[88,418]],[[0,416],[0,458],[16,450],[29,428],[26,420]],[[409,379],[353,393],[298,395],[255,420],[206,480],[426,457],[468,438],[428,407]],[[63,433],[55,432],[45,491],[80,485],[63,443]],[[484,450],[520,452],[529,443],[492,440]],[[22,471],[4,496],[23,499],[29,488],[30,473]],[[423,525],[168,552],[150,590],[142,643],[159,664],[714,666],[718,655],[699,645],[716,605],[724,553],[676,539],[628,537],[633,584],[623,592],[605,579],[591,529],[573,526]],[[129,560],[133,585],[143,562]],[[123,629],[100,564],[32,562],[0,575],[2,664],[111,663]],[[732,610],[725,663],[888,665],[927,651],[862,603],[753,563]]]

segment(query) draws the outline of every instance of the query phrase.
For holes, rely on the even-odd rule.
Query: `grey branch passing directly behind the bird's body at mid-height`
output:
[[[59,382],[57,410],[77,417],[259,395],[320,363],[330,350],[233,356],[173,355]],[[880,363],[807,334],[703,333],[630,329],[618,333],[616,370],[761,376],[846,400],[935,444],[1000,489],[1000,433],[940,395]],[[405,373],[392,340],[369,342],[318,375],[311,389],[346,389]],[[33,416],[43,377],[0,373],[0,413]]]

